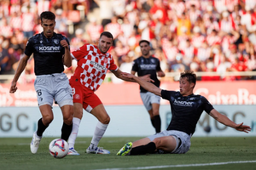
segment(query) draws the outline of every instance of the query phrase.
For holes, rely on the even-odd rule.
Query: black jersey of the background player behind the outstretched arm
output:
[[[148,59],[143,56],[135,59],[132,64],[131,71],[137,71],[137,76],[142,77],[150,74],[150,78],[154,80],[154,85],[160,87],[160,81],[157,78],[156,72],[160,71],[160,60],[150,56]],[[141,93],[148,92],[146,89],[140,86]]]

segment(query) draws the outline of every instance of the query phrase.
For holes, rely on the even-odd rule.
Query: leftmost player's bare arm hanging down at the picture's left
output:
[[[29,59],[29,56],[27,56],[26,54],[20,59],[19,65],[17,67],[17,70],[15,71],[15,77],[11,83],[11,87],[9,88],[9,93],[14,94],[17,90],[17,82],[19,80],[20,74],[22,73],[22,71],[24,71],[26,64],[27,64],[27,60]]]

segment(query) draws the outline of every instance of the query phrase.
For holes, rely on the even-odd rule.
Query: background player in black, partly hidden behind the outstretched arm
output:
[[[139,42],[142,56],[133,61],[131,68],[131,74],[144,79],[154,80],[154,85],[160,87],[160,81],[157,77],[165,77],[166,74],[160,68],[160,60],[150,55],[150,42],[147,40],[141,40]],[[160,96],[148,92],[145,88],[140,86],[140,95],[143,100],[143,105],[147,109],[151,123],[156,133],[160,133],[161,121],[160,121]]]

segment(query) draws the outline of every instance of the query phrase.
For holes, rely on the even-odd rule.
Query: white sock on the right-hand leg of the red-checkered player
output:
[[[98,146],[107,127],[108,127],[108,124],[102,124],[102,122],[97,123],[95,131],[94,131],[94,135],[90,142],[90,149],[95,149]]]

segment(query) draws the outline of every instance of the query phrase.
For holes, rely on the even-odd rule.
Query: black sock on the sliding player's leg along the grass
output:
[[[155,146],[154,142],[149,142],[148,144],[132,148],[130,155],[136,156],[136,155],[151,154],[151,153],[154,153],[155,149],[156,149],[156,146]]]

